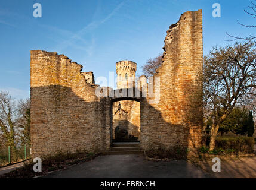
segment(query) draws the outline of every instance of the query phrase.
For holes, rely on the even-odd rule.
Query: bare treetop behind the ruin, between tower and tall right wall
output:
[[[146,64],[141,66],[142,72],[146,77],[153,76],[153,74],[156,73],[156,69],[158,69],[159,66],[162,65],[162,56],[163,54],[160,53],[159,56],[148,59]]]

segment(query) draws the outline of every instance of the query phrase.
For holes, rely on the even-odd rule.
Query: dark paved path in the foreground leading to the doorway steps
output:
[[[149,161],[143,155],[106,155],[44,178],[207,178],[199,167],[184,160]]]

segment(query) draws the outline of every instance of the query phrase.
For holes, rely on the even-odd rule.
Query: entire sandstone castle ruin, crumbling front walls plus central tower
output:
[[[138,137],[141,150],[200,147],[202,100],[192,100],[202,90],[202,84],[197,82],[202,47],[202,11],[188,11],[169,27],[163,62],[153,80],[147,82],[141,77],[134,87],[135,62],[117,62],[117,91],[137,89],[139,97],[120,97],[116,93],[110,96],[116,90],[109,87],[107,96],[98,97],[100,86],[94,84],[92,72],[82,72],[82,65],[67,56],[32,50],[32,157],[110,150],[115,131],[120,128],[127,130],[128,137]],[[148,95],[150,89],[159,94],[158,101],[152,101],[156,97]],[[124,130],[119,135],[128,138]]]

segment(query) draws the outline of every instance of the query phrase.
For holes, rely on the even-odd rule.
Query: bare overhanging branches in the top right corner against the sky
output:
[[[255,1],[256,2],[256,1]],[[246,14],[249,14],[251,15],[253,18],[256,18],[256,3],[252,2],[251,1],[251,6],[248,6],[248,8],[250,9],[250,11],[246,11],[246,10],[243,10],[246,12]],[[237,21],[238,24],[242,25],[242,26],[245,26],[245,27],[248,27],[248,28],[253,28],[253,27],[256,27],[256,25],[245,25],[245,24],[242,24],[240,23],[239,21]],[[256,36],[254,35],[250,35],[249,37],[240,37],[240,36],[233,36],[229,33],[226,32],[226,34],[229,36],[229,37],[232,37],[233,39],[232,40],[227,40],[227,41],[233,41],[233,40],[239,40],[239,39],[242,39],[242,40],[252,40],[252,39],[256,39]]]

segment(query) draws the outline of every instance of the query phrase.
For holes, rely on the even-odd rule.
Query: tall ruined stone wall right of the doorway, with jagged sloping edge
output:
[[[141,147],[198,148],[202,138],[202,11],[188,11],[167,31],[160,77],[160,100],[141,102]],[[199,97],[199,98],[197,98]]]

